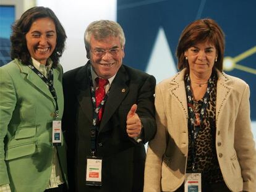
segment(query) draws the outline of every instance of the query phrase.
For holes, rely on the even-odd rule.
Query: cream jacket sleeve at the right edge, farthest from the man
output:
[[[250,122],[250,90],[246,85],[235,122],[234,148],[244,180],[243,191],[256,189],[256,151]]]

